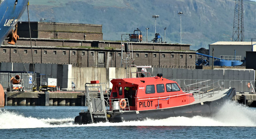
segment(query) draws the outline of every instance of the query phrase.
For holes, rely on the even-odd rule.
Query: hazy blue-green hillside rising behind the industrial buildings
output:
[[[182,43],[192,44],[192,50],[217,41],[232,40],[234,0],[33,0],[30,1],[30,20],[40,18],[56,22],[102,24],[104,40],[120,40],[121,34],[142,31],[146,40],[154,38],[156,32],[166,42],[180,42],[180,16],[182,11]],[[256,38],[254,24],[256,2],[244,0],[245,41]],[[22,16],[27,21],[27,13]]]

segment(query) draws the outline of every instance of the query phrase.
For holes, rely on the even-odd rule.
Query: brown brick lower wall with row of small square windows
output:
[[[32,63],[30,46],[19,46],[24,63]],[[105,67],[120,67],[121,50],[33,46],[34,63],[72,64],[74,67],[98,67],[98,53],[105,55]],[[133,64],[162,68],[195,68],[195,52],[134,50]],[[123,56],[125,57],[125,56]],[[21,62],[15,46],[0,48],[0,62]],[[125,66],[125,64],[123,63]]]

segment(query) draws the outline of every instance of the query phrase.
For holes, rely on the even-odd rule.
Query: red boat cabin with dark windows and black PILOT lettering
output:
[[[194,102],[194,96],[184,93],[176,81],[158,77],[112,79],[110,109],[119,101],[123,110],[149,110],[176,107]],[[128,102],[126,102],[128,101]]]

